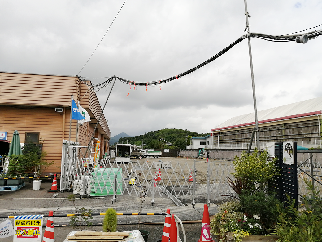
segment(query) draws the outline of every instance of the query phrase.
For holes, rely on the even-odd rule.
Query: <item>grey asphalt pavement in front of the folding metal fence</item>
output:
[[[43,181],[40,190],[33,190],[33,185],[28,181],[25,186],[17,191],[1,191],[0,192],[0,223],[5,221],[8,216],[14,215],[44,215],[47,216],[52,210],[54,214],[54,232],[55,241],[62,242],[68,234],[75,230],[66,226],[70,221],[70,217],[55,217],[67,214],[75,214],[75,208],[71,201],[68,201],[69,192],[48,193],[51,183]],[[201,189],[204,190],[204,189]],[[198,192],[196,192],[198,194]],[[205,194],[198,196],[205,197]],[[112,196],[107,197],[90,197],[80,199],[79,195],[75,195],[76,207],[85,207],[92,209],[92,213],[105,213],[106,209],[113,207],[117,213],[138,213],[141,205],[139,197],[118,196],[118,199],[112,204]],[[198,200],[198,199],[196,199]],[[204,199],[199,199],[204,200]],[[164,197],[155,197],[155,203],[152,205],[151,197],[146,197],[142,204],[141,213],[166,213],[170,209],[171,214],[175,214],[184,223],[185,234],[188,242],[195,242],[200,238],[201,221],[204,213],[204,203],[196,203],[194,207],[190,203],[186,206],[176,206],[172,200]],[[212,217],[217,212],[217,206],[211,204],[208,207],[209,215]],[[6,218],[5,218],[6,217]],[[86,230],[101,231],[104,216],[94,216],[93,225]],[[11,219],[13,222],[13,219]],[[140,217],[139,229],[149,231],[148,242],[154,242],[161,239],[163,231],[163,223],[165,216],[163,215],[142,215]],[[185,222],[187,221],[187,222]],[[45,226],[47,218],[43,219]],[[128,231],[137,229],[137,215],[118,215],[118,231]],[[44,233],[43,228],[43,233]],[[180,231],[182,231],[180,229]],[[182,232],[180,238],[183,241]],[[13,236],[2,238],[2,242],[13,242]]]

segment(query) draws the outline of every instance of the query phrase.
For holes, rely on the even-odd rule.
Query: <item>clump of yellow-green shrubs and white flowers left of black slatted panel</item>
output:
[[[223,241],[276,241],[270,234],[277,223],[276,204],[281,203],[268,191],[272,177],[278,174],[275,160],[267,160],[267,152],[258,155],[257,149],[252,154],[245,151],[233,161],[234,179],[227,179],[236,192],[234,199],[219,206],[218,213],[211,221],[213,235]]]

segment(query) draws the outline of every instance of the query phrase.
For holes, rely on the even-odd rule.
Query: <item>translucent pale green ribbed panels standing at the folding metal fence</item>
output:
[[[93,169],[91,175],[94,185],[90,190],[90,196],[100,197],[113,195],[114,187],[112,186],[114,185],[115,175],[117,175],[117,187],[119,185],[116,194],[122,194],[122,168],[96,168]]]

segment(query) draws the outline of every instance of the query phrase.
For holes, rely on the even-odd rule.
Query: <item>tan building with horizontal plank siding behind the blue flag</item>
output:
[[[78,142],[87,146],[101,107],[91,82],[77,76],[54,76],[0,72],[0,132],[7,132],[0,139],[0,155],[8,153],[14,130],[20,142],[43,143],[46,160],[54,161],[47,172],[60,173],[62,142],[69,140],[71,95],[90,114],[91,121],[79,126]],[[71,121],[71,141],[76,139],[77,120]],[[110,131],[102,115],[95,138],[100,142],[100,157],[108,152]]]

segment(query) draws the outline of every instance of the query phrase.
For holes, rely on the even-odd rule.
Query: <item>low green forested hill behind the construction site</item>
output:
[[[143,146],[144,148],[150,149],[186,149],[186,145],[190,145],[190,139],[192,137],[204,137],[208,134],[198,134],[196,132],[191,132],[183,129],[176,128],[165,128],[156,131],[150,131],[144,135],[134,136],[134,137],[123,137],[118,140],[118,143],[132,144],[137,146]],[[161,140],[165,139],[167,142],[172,143],[172,146],[166,145],[166,143]]]

